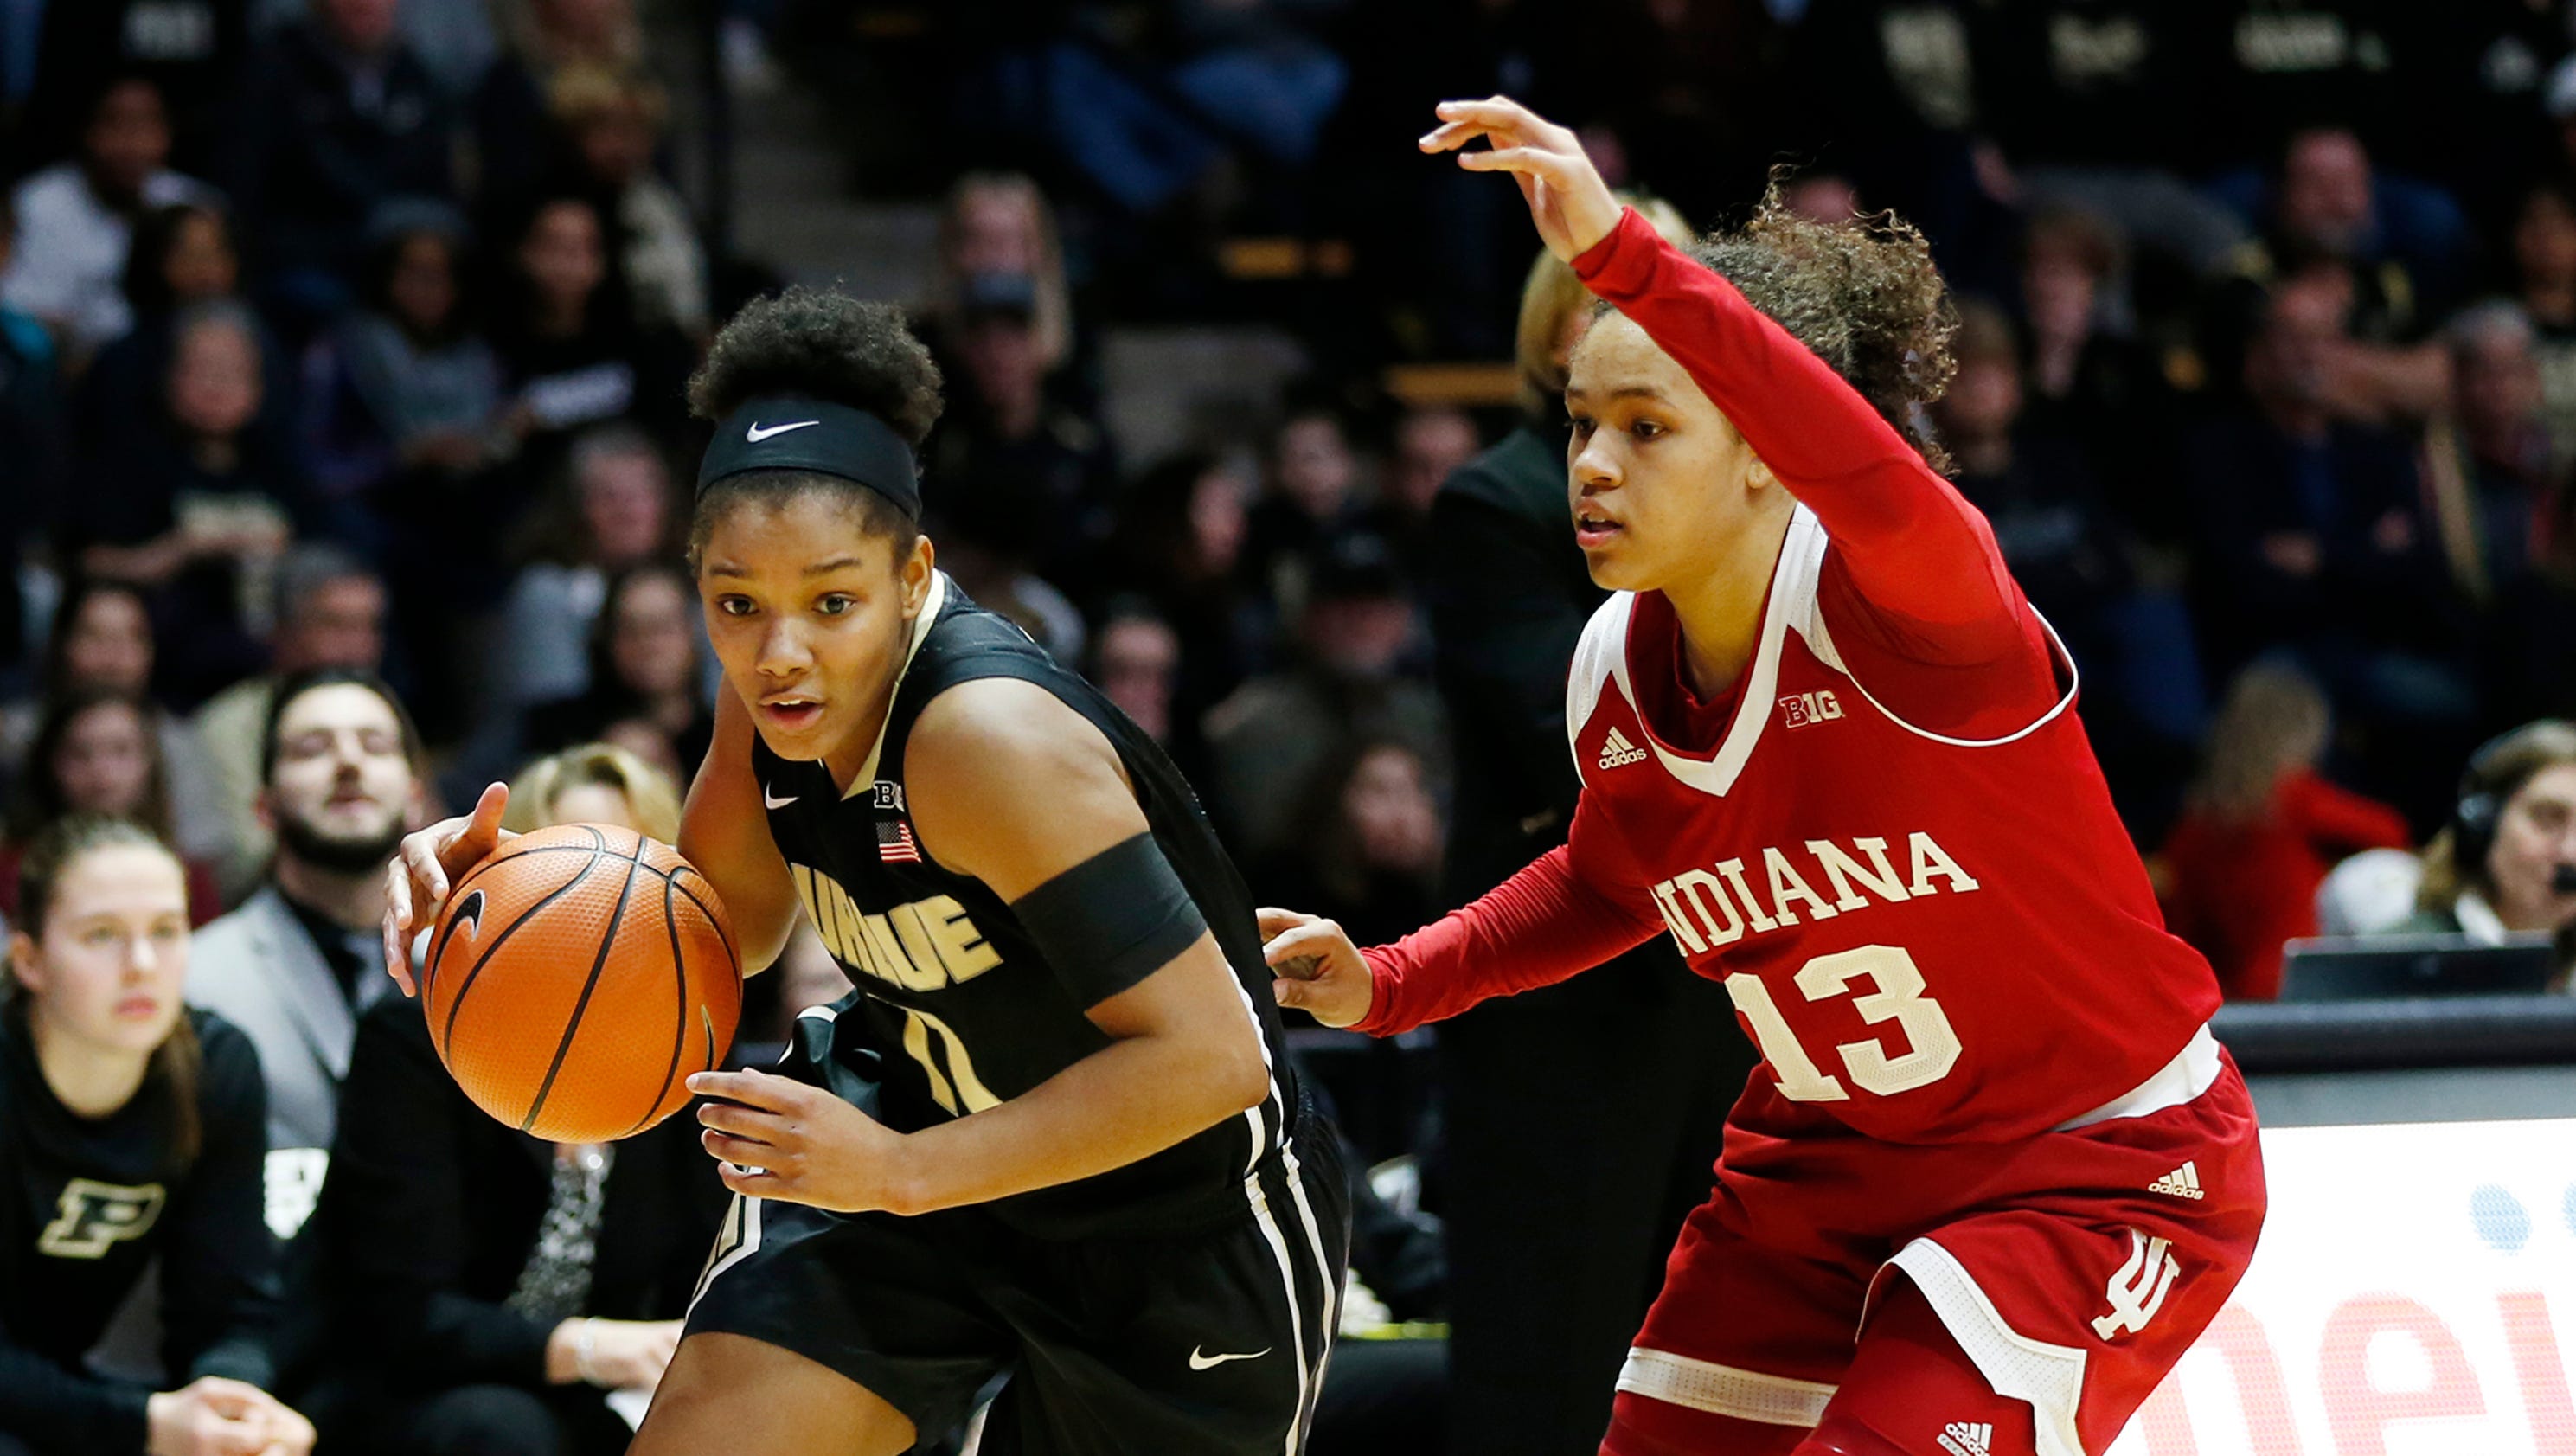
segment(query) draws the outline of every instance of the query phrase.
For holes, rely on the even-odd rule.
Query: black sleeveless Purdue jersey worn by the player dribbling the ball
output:
[[[770,838],[796,876],[796,897],[858,984],[835,1008],[835,1054],[873,1051],[876,1113],[896,1131],[917,1131],[1018,1098],[1110,1044],[1084,1010],[1126,984],[1105,984],[1092,966],[1051,964],[1002,897],[938,866],[912,832],[904,740],[930,698],[976,678],[1036,683],[1110,740],[1154,843],[1234,966],[1270,1064],[1270,1095],[1244,1116],[1126,1167],[989,1209],[1025,1232],[1061,1237],[1239,1216],[1244,1178],[1275,1154],[1298,1116],[1252,894],[1154,740],[945,575],[933,580],[884,734],[848,794],[822,763],[788,763],[752,745]]]

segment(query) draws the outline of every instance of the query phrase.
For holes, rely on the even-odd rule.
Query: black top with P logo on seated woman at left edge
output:
[[[198,1154],[170,1167],[170,1106],[147,1082],[82,1118],[36,1067],[26,1010],[0,1010],[0,1430],[39,1451],[142,1451],[144,1389],[82,1374],[82,1355],[155,1258],[165,1363],[270,1384],[276,1245],[263,1219],[268,1098],[250,1039],[191,1010]]]

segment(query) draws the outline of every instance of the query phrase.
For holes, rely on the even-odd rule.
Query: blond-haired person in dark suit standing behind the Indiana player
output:
[[[1458,750],[1448,894],[1461,905],[1564,843],[1574,817],[1566,667],[1602,590],[1574,546],[1558,397],[1569,325],[1589,302],[1566,265],[1538,258],[1520,317],[1525,420],[1432,500],[1432,642]],[[1628,1340],[1682,1214],[1708,1198],[1752,1064],[1726,992],[1664,938],[1440,1023],[1450,1451],[1600,1446]]]

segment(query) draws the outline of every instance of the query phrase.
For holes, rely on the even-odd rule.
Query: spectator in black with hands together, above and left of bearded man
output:
[[[196,704],[263,662],[268,582],[304,487],[265,425],[258,320],[198,304],[170,338],[160,410],[88,461],[64,539],[85,572],[152,590],[162,691]]]

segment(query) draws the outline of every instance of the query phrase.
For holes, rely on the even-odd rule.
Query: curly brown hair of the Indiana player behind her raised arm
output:
[[[1950,474],[1950,451],[1922,412],[1958,371],[1958,304],[1932,245],[1893,211],[1850,222],[1795,214],[1780,201],[1783,180],[1772,173],[1752,219],[1698,240],[1690,258],[1832,366],[1924,464]]]

